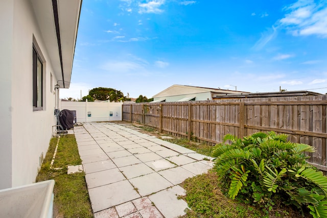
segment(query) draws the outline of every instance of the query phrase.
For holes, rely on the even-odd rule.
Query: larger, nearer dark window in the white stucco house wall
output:
[[[43,62],[33,46],[33,111],[43,110]]]

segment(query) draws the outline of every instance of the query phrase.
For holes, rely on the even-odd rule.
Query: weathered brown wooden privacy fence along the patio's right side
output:
[[[315,147],[309,162],[327,171],[327,95],[123,105],[123,120],[189,139],[218,143],[226,134],[289,134]]]

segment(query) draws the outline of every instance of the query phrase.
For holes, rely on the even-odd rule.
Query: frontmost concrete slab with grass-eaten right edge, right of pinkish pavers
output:
[[[189,208],[186,202],[177,199],[178,196],[184,195],[185,190],[176,185],[149,196],[149,199],[154,202],[155,206],[165,217],[178,217],[184,215],[184,210]]]

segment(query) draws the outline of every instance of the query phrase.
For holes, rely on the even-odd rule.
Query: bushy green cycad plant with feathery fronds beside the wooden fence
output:
[[[315,152],[314,148],[287,138],[275,132],[243,139],[226,135],[213,151],[219,179],[231,199],[267,209],[294,205],[310,209],[313,217],[327,217],[327,177],[306,162],[305,152]]]

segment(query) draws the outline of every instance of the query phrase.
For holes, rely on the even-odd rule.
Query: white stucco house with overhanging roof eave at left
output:
[[[69,88],[81,0],[2,0],[0,189],[35,182]]]

